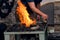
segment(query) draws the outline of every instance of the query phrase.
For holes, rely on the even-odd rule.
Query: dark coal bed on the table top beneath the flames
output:
[[[24,25],[15,24],[10,28],[7,28],[7,32],[24,32],[24,31],[43,31],[45,29],[46,23],[37,22],[36,25],[31,25],[29,28],[26,28]],[[38,29],[31,30],[31,27],[39,27]]]

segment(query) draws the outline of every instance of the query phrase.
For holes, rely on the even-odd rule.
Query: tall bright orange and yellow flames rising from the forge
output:
[[[29,16],[28,11],[26,10],[26,6],[18,0],[17,2],[17,15],[19,16],[19,20],[21,21],[21,24],[25,24],[26,27],[30,27],[30,25],[35,25],[36,20],[32,20]]]

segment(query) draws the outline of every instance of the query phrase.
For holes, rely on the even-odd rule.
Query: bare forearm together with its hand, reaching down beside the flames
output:
[[[28,2],[29,7],[32,9],[32,11],[36,12],[37,14],[41,15],[43,19],[47,19],[48,16],[44,14],[42,11],[40,11],[34,4],[34,2]]]

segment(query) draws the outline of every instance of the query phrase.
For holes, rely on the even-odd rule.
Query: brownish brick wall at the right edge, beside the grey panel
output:
[[[54,3],[54,23],[55,31],[60,31],[60,2]]]

